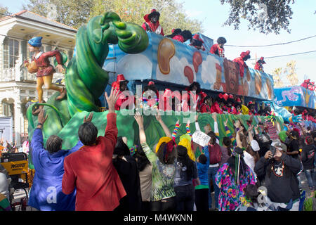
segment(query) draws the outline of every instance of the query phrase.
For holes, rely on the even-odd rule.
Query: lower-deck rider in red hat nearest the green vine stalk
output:
[[[133,108],[134,96],[129,93],[129,89],[127,87],[128,83],[129,81],[126,80],[122,74],[117,75],[117,81],[112,83],[112,87],[119,89],[119,99],[115,104],[115,110]]]

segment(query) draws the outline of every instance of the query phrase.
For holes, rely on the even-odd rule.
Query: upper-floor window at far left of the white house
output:
[[[14,68],[15,60],[19,58],[20,42],[11,39],[4,39],[4,68]]]

